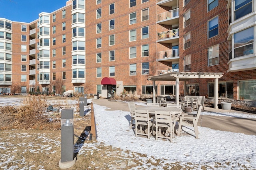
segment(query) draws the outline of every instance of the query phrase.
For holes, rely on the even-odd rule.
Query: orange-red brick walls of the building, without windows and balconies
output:
[[[161,0],[159,0],[161,2]],[[109,14],[109,5],[114,3],[114,14]],[[110,77],[110,66],[115,66],[115,76],[113,78],[117,82],[122,82],[124,87],[136,86],[138,94],[142,94],[142,86],[152,86],[152,81],[148,81],[148,76],[158,74],[159,70],[167,70],[174,63],[179,64],[180,72],[184,71],[184,57],[191,55],[191,63],[189,72],[223,72],[223,77],[219,82],[233,83],[233,99],[239,100],[239,80],[255,80],[256,72],[253,70],[244,70],[237,72],[228,72],[229,66],[229,9],[227,9],[228,1],[218,1],[218,6],[208,11],[208,2],[202,0],[193,0],[184,6],[184,0],[179,0],[178,4],[168,6],[158,4],[155,0],[149,0],[142,3],[141,0],[136,1],[136,6],[130,7],[128,0],[104,0],[100,4],[96,1],[85,1],[85,83],[72,83],[72,0],[68,1],[66,6],[50,13],[50,83],[40,84],[37,81],[37,75],[40,70],[37,69],[37,43],[39,39],[37,33],[39,29],[37,22],[20,23],[12,22],[12,85],[1,84],[1,87],[11,87],[11,93],[20,93],[20,87],[26,86],[27,92],[30,88],[38,87],[40,91],[42,87],[47,87],[52,92],[52,87],[56,86],[56,93],[62,94],[62,86],[66,90],[74,90],[74,87],[84,87],[84,93],[94,94],[97,92],[97,85],[101,83],[102,78]],[[96,19],[96,10],[101,8],[101,18]],[[149,19],[142,21],[142,10],[149,11]],[[158,22],[158,15],[179,10],[179,20],[177,23],[161,23]],[[66,17],[62,18],[62,11],[66,11]],[[184,27],[184,13],[190,10],[190,24]],[[79,10],[78,10],[79,12]],[[136,23],[130,24],[130,14],[136,12]],[[56,21],[52,21],[52,16],[56,15]],[[208,39],[208,21],[218,16],[218,35]],[[114,29],[109,29],[110,20],[115,20]],[[62,23],[66,23],[66,29],[62,30]],[[101,33],[97,33],[96,25],[101,23]],[[27,25],[27,31],[21,31],[21,25]],[[79,24],[78,24],[79,25]],[[56,27],[56,33],[53,33],[53,26]],[[142,27],[149,28],[148,38],[142,39]],[[178,28],[179,38],[174,41],[158,41],[159,35],[166,31],[172,31]],[[30,30],[36,29],[35,34],[30,34]],[[136,41],[130,41],[130,30],[136,29]],[[190,47],[184,49],[183,37],[190,32]],[[160,34],[159,34],[160,33]],[[26,42],[21,42],[21,35],[27,36]],[[62,43],[62,35],[66,35],[66,42]],[[109,45],[109,36],[114,35],[114,45]],[[56,45],[52,44],[52,39],[56,38]],[[96,39],[102,39],[102,47],[96,47]],[[35,44],[30,44],[29,40],[35,39]],[[149,56],[142,57],[142,45],[149,45]],[[21,45],[27,45],[27,51],[21,52]],[[208,66],[208,48],[219,45],[218,64]],[[178,46],[179,58],[159,59],[158,55],[161,51],[172,50],[172,47]],[[66,47],[66,54],[62,55],[62,48]],[[136,47],[136,58],[130,59],[130,47]],[[35,49],[35,55],[29,55],[31,49]],[[52,50],[56,50],[56,57],[52,57]],[[115,51],[114,61],[109,60],[110,51]],[[96,62],[96,54],[101,53],[102,61]],[[21,55],[27,55],[27,61],[21,61]],[[31,60],[36,59],[36,64],[30,64]],[[66,59],[66,67],[62,67],[62,60]],[[56,62],[56,68],[52,67],[53,61]],[[149,73],[142,74],[142,63],[149,63]],[[136,64],[136,75],[130,76],[130,64]],[[26,65],[26,72],[21,72],[21,65]],[[74,65],[73,65],[74,67]],[[97,77],[97,68],[102,68],[102,76]],[[35,74],[29,74],[30,70],[35,69]],[[66,79],[62,79],[62,73],[66,72]],[[56,80],[52,80],[53,73],[56,74]],[[21,82],[21,75],[27,75],[27,81]],[[35,84],[30,84],[29,80],[34,80]],[[200,96],[208,95],[208,83],[212,80],[190,80],[186,82],[188,85],[199,87],[198,94]],[[156,82],[157,93],[160,94],[161,85],[174,85],[175,82]],[[183,83],[180,83],[180,91],[183,93]]]

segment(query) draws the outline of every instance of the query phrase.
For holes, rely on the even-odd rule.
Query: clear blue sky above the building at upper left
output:
[[[0,0],[0,18],[32,22],[41,12],[54,12],[66,6],[68,0]]]

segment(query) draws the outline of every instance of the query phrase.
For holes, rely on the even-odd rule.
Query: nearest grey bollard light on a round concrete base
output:
[[[76,162],[74,157],[74,110],[62,109],[61,111],[61,169],[70,168]]]

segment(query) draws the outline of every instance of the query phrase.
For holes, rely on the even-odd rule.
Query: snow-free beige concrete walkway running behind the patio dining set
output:
[[[126,102],[110,102],[107,99],[100,98],[98,100],[92,100],[93,103],[100,106],[108,107],[106,110],[123,110],[129,111],[128,104]],[[141,101],[142,102],[142,101]],[[146,102],[144,102],[146,103]],[[138,106],[138,105],[137,105]],[[223,110],[214,109],[211,107],[204,107],[204,111],[209,112],[232,112],[241,114],[251,114],[235,110]],[[256,135],[256,119],[249,118],[236,118],[227,116],[212,116],[201,115],[198,121],[198,126],[208,127],[220,131],[230,131],[235,133],[244,133],[246,135]]]

